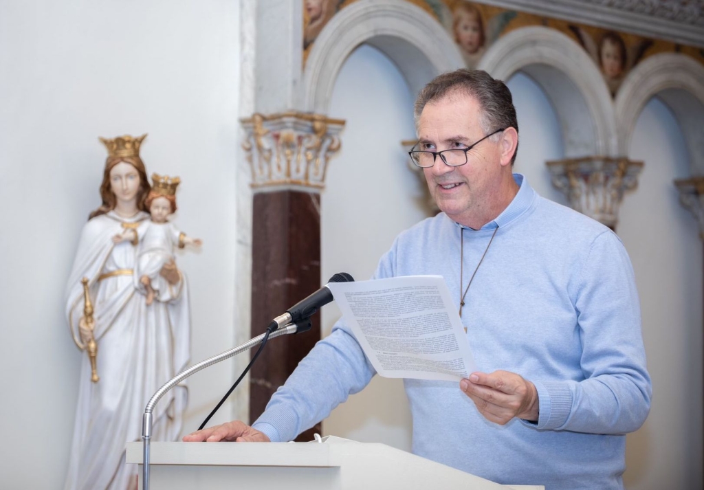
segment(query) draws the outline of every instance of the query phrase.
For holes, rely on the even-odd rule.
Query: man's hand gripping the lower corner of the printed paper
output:
[[[538,420],[538,390],[515,372],[472,372],[470,379],[460,381],[460,389],[472,398],[479,413],[498,425],[513,417]]]

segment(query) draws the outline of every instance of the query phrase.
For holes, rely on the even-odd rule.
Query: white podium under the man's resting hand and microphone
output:
[[[327,436],[322,442],[151,443],[151,490],[539,490],[506,486],[384,444]],[[142,443],[127,444],[139,464]]]

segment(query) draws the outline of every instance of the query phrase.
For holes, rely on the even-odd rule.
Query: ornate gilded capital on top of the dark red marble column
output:
[[[271,189],[320,191],[327,161],[340,149],[341,119],[289,111],[255,113],[241,119],[242,148],[251,165],[255,192]]]

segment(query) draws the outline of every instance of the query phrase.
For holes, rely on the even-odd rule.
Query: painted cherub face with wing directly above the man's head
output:
[[[505,11],[494,15],[484,23],[482,11],[475,4],[459,1],[452,8],[452,34],[460,47],[467,68],[474,68],[484,56],[487,47],[498,39],[510,20],[515,18],[514,11]]]

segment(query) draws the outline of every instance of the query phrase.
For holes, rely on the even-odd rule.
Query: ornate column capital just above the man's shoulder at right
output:
[[[564,192],[575,211],[614,229],[624,191],[634,189],[643,162],[628,158],[587,156],[548,161],[553,185]]]

